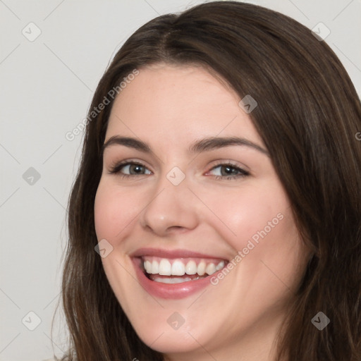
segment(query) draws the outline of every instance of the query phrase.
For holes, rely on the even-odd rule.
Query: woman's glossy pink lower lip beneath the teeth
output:
[[[210,276],[204,277],[204,279],[197,279],[195,281],[187,281],[182,283],[161,283],[152,281],[151,279],[148,279],[147,276],[145,276],[144,272],[140,268],[141,259],[133,258],[133,264],[137,274],[137,279],[140,281],[142,288],[144,288],[147,293],[154,295],[155,297],[165,299],[186,298],[211,284]],[[212,274],[212,276],[216,275],[217,273],[218,272]]]

